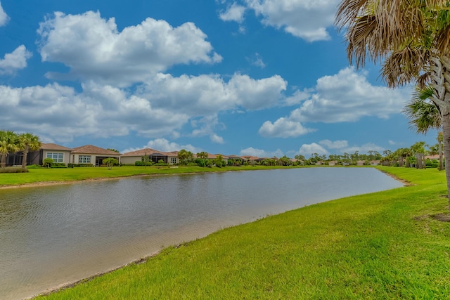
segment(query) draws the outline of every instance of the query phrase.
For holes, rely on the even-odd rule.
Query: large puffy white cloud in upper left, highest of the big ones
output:
[[[47,74],[56,79],[94,79],[127,86],[172,65],[218,63],[222,59],[192,22],[172,27],[165,20],[147,18],[119,32],[114,18],[105,20],[98,12],[56,12],[40,23],[38,34],[42,60],[70,67],[66,76]]]

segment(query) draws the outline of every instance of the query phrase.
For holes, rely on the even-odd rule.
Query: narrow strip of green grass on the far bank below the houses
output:
[[[205,173],[205,172],[221,172],[221,171],[245,171],[245,170],[262,170],[276,169],[281,167],[265,167],[265,166],[242,166],[242,167],[134,167],[123,166],[113,167],[108,170],[106,167],[75,167],[75,168],[40,168],[30,169],[28,173],[0,173],[0,187],[8,185],[24,185],[30,183],[43,182],[65,182],[65,181],[82,181],[99,178],[118,178],[137,175],[152,174],[186,174],[186,173]],[[284,167],[287,168],[287,167]],[[289,167],[293,168],[293,167]]]

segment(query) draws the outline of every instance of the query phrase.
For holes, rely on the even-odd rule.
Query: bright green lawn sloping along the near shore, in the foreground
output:
[[[448,299],[450,224],[430,217],[444,172],[380,169],[414,185],[226,228],[48,299]]]

